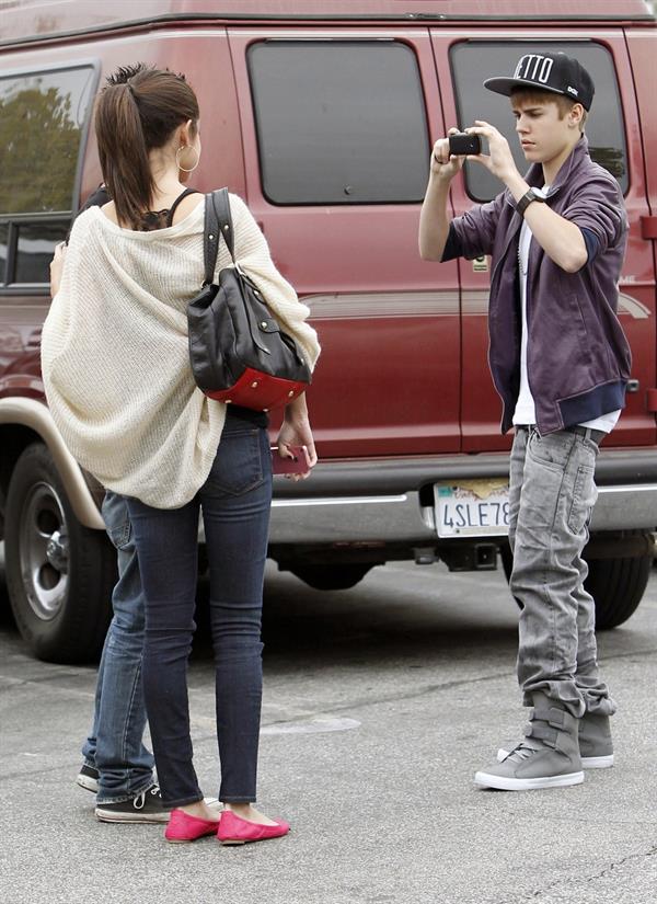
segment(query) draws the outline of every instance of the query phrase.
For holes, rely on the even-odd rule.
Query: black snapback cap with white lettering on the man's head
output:
[[[514,88],[538,88],[553,94],[564,94],[590,110],[593,80],[578,60],[565,54],[523,54],[510,78],[486,79],[484,88],[496,94],[510,95]]]

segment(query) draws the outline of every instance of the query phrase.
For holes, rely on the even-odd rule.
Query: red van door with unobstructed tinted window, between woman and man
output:
[[[310,306],[324,458],[460,448],[457,264],[417,250],[445,128],[426,28],[229,28],[247,202]]]

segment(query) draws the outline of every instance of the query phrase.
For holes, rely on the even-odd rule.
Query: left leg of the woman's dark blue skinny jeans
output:
[[[187,660],[196,629],[199,500],[153,508],[128,499],[146,599],[143,694],[162,800],[203,799],[193,766]]]

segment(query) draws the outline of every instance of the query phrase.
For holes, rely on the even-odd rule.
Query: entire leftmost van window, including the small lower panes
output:
[[[0,78],[0,288],[49,282],[78,201],[92,66]]]

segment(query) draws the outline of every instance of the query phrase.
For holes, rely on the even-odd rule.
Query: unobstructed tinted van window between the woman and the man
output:
[[[270,41],[249,50],[263,192],[273,204],[424,196],[417,60],[396,41]]]

